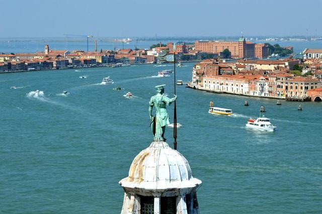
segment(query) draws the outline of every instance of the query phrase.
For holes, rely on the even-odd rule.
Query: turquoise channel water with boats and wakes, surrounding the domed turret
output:
[[[191,79],[193,64],[185,65],[177,69],[179,80]],[[148,101],[154,86],[167,84],[173,96],[173,75],[153,76],[170,68],[0,75],[0,213],[119,213],[118,181],[152,139]],[[115,83],[100,85],[107,76]],[[113,90],[118,85],[125,90]],[[43,95],[30,93],[35,90]],[[70,94],[62,96],[64,90]],[[128,91],[133,99],[123,97]],[[197,193],[201,213],[322,212],[322,103],[302,103],[299,112],[293,102],[277,106],[276,100],[184,86],[177,94],[183,124],[178,150],[203,181]],[[210,100],[235,115],[209,114]],[[262,104],[278,127],[274,133],[245,128]],[[166,138],[172,145],[171,128]]]

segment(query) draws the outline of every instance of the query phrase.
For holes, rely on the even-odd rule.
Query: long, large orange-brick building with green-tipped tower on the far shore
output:
[[[233,58],[254,58],[255,44],[240,38],[238,41],[196,41],[195,50],[219,54],[228,49]]]

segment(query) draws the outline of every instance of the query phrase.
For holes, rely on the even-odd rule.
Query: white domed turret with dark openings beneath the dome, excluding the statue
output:
[[[133,160],[124,189],[121,214],[200,214],[197,188],[188,161],[165,141],[153,141]]]

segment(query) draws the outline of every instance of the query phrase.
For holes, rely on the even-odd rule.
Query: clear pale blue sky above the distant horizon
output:
[[[1,1],[0,37],[322,35],[319,0]]]

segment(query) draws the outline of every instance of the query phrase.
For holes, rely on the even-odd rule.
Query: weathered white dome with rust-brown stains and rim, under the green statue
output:
[[[133,160],[122,187],[151,190],[194,188],[202,182],[192,177],[188,161],[167,142],[153,141]]]

